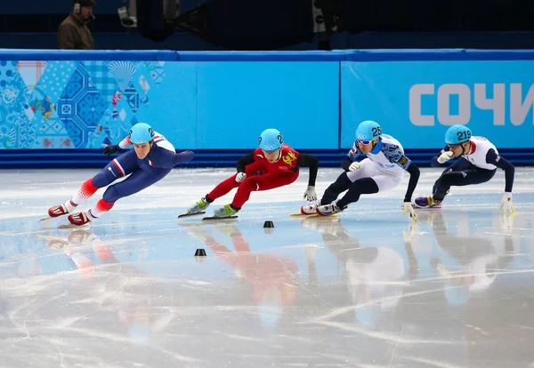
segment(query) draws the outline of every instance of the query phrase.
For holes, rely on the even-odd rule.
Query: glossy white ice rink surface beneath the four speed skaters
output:
[[[96,172],[0,172],[1,367],[534,367],[531,168],[513,217],[498,171],[417,223],[408,174],[336,219],[293,218],[303,168],[236,220],[178,220],[235,170],[175,169],[88,228],[38,221]],[[320,169],[318,195],[340,172]]]

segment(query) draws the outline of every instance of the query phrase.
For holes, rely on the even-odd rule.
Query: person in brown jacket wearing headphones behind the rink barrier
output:
[[[87,23],[94,19],[94,0],[74,0],[72,12],[58,28],[60,49],[93,50],[94,41]]]

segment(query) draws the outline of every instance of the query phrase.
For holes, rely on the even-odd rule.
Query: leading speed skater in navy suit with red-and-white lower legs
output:
[[[162,180],[177,164],[183,164],[193,159],[195,154],[186,150],[176,153],[174,146],[166,138],[155,132],[149,124],[138,123],[132,126],[128,136],[117,145],[104,148],[104,154],[111,156],[124,148],[134,145],[134,149],[127,150],[113,159],[101,172],[86,180],[64,204],[51,207],[50,217],[59,217],[76,210],[99,189],[108,186],[115,180],[128,176],[117,184],[110,185],[100,201],[90,210],[69,215],[69,222],[82,226],[108,212],[118,199],[132,196],[144,188]]]

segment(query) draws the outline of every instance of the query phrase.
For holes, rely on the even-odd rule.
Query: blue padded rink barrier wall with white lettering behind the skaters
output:
[[[174,52],[0,49],[0,168],[102,167],[139,121],[187,167],[234,166],[259,132],[339,166],[362,120],[421,166],[451,124],[534,164],[534,51]],[[55,87],[55,88],[54,88]]]

